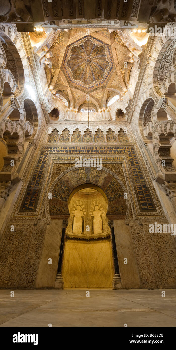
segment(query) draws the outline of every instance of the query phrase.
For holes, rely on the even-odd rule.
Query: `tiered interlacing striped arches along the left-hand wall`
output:
[[[0,26],[0,141],[1,145],[3,144],[4,165],[1,164],[0,170],[4,178],[7,174],[10,174],[11,179],[16,177],[15,172],[24,154],[24,142],[31,145],[30,141],[35,139],[35,143],[38,144],[42,116],[21,33],[16,31],[14,25],[2,25]],[[11,160],[14,162],[12,165]]]

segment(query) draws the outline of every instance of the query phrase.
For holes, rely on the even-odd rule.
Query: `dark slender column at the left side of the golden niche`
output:
[[[55,281],[55,289],[64,289],[62,267],[63,267],[64,245],[65,245],[65,230],[66,230],[67,225],[68,225],[68,220],[63,220],[61,245],[60,245],[60,251],[59,251],[59,261],[58,261],[57,275],[56,275],[56,281]]]

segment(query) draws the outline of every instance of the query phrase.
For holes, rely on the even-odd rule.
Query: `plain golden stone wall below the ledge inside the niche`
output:
[[[66,239],[63,279],[64,288],[111,288],[111,240]]]

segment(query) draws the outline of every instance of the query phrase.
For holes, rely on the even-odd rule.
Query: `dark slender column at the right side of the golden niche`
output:
[[[112,287],[113,289],[119,289],[121,288],[122,285],[121,285],[121,279],[120,279],[120,273],[119,273],[119,264],[118,264],[118,257],[117,257],[117,248],[115,244],[113,220],[109,220],[108,225],[110,226],[110,230],[111,230],[111,244],[112,244],[113,267],[114,267]]]

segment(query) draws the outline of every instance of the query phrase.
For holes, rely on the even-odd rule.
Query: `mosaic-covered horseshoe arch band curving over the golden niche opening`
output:
[[[104,179],[103,182],[101,182],[101,176]],[[77,182],[75,181],[76,179]],[[69,196],[72,191],[78,189],[80,185],[86,187],[87,184],[96,188],[99,187],[98,190],[105,193],[108,201],[107,215],[125,218],[126,200],[124,199],[124,190],[117,179],[111,174],[105,170],[97,170],[94,168],[73,169],[58,180],[52,190],[53,195],[49,202],[50,216],[69,216]]]

